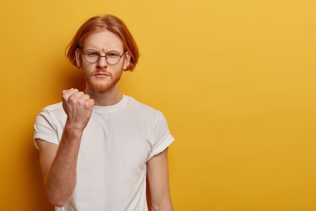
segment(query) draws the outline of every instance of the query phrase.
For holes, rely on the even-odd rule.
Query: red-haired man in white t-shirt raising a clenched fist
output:
[[[173,210],[166,119],[118,90],[122,71],[132,71],[139,56],[126,25],[112,15],[90,18],[68,47],[86,89],[64,90],[63,102],[44,108],[34,125],[55,210],[147,210],[146,175],[151,210]]]

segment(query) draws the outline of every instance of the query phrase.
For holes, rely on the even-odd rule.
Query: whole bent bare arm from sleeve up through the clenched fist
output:
[[[45,191],[49,201],[56,206],[64,206],[76,187],[81,137],[93,105],[94,101],[78,90],[63,91],[67,121],[60,144],[35,140],[39,148]]]

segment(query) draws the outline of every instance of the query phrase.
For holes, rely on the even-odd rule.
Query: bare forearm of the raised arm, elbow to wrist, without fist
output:
[[[56,157],[45,178],[45,189],[50,202],[64,206],[71,198],[77,181],[77,159],[82,131],[65,126]]]

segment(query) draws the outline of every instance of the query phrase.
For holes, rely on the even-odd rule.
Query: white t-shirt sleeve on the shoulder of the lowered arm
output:
[[[157,155],[164,151],[175,139],[170,134],[167,120],[162,112],[158,112],[155,122],[153,144],[147,161],[154,155]]]

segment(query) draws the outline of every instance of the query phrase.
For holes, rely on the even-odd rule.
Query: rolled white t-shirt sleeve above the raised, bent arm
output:
[[[35,119],[33,140],[41,139],[46,142],[59,144],[57,126],[52,121],[49,113],[43,109]],[[38,149],[36,142],[35,147]]]

